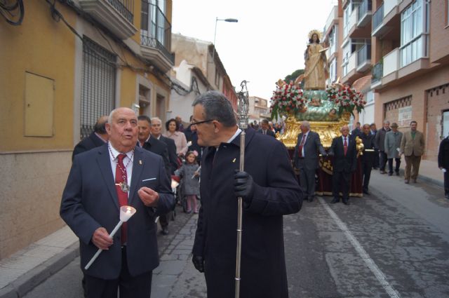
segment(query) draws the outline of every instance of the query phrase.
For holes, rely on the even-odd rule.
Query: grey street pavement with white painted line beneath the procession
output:
[[[443,189],[420,179],[404,184],[403,177],[373,170],[370,192],[351,198],[349,206],[318,197],[284,217],[290,297],[449,297],[449,200]],[[161,265],[154,270],[152,297],[206,297],[190,253],[196,219],[179,213],[170,235],[158,236]],[[79,258],[23,297],[82,297]]]

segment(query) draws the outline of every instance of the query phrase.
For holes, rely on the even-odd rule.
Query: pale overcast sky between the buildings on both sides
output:
[[[311,29],[323,30],[335,0],[173,0],[172,32],[213,42],[234,86],[269,99],[275,82],[304,68]]]

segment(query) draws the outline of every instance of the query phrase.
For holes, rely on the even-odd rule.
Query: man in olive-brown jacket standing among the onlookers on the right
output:
[[[420,170],[421,156],[424,154],[424,135],[418,131],[417,122],[410,122],[410,131],[403,134],[401,140],[401,155],[406,156],[406,171],[404,179],[406,184],[410,182],[410,170],[413,183],[416,183]]]

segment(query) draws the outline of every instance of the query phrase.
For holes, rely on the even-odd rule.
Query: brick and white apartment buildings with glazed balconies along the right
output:
[[[431,161],[449,134],[448,14],[447,0],[344,0],[324,30],[328,83],[340,78],[365,95],[356,119],[397,122],[402,131],[417,121]]]

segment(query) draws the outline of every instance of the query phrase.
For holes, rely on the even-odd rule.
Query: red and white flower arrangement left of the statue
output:
[[[298,111],[302,111],[307,98],[303,96],[302,89],[290,81],[279,80],[276,82],[276,90],[273,91],[271,98],[270,113],[272,118],[278,119],[278,116],[295,115]]]

